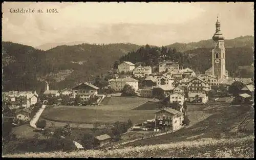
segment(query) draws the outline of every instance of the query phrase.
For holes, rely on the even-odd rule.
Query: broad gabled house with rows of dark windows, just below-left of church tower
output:
[[[203,81],[202,79],[195,77],[188,83],[188,92],[202,93],[210,90],[209,83]]]

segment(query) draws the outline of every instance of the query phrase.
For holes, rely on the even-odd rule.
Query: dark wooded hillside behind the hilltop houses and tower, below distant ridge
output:
[[[254,62],[254,52],[250,47],[227,48],[226,70],[230,76],[234,76],[239,66],[251,65]],[[157,65],[163,59],[179,62],[181,67],[190,67],[196,72],[203,73],[212,65],[212,53],[209,48],[198,48],[185,52],[167,47],[150,47],[146,45],[136,52],[130,52],[122,56],[119,61],[131,61],[133,63],[144,62],[145,65]]]

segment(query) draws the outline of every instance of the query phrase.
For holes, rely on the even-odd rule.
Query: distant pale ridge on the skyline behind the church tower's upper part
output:
[[[225,48],[239,48],[239,47],[254,47],[254,37],[253,36],[240,36],[234,39],[225,40]],[[190,43],[173,43],[166,45],[168,48],[175,48],[177,51],[187,51],[194,50],[198,48],[212,48],[213,41],[212,39],[201,40],[198,42]]]

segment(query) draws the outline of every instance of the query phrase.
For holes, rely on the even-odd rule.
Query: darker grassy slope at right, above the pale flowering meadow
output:
[[[213,106],[214,104],[212,103],[211,105]],[[193,136],[197,139],[243,137],[253,132],[253,130],[251,130],[250,133],[239,132],[238,130],[232,132],[233,128],[238,128],[244,118],[248,117],[248,112],[252,112],[249,111],[250,107],[218,103],[213,107],[200,106],[199,108],[207,109],[195,111],[197,110],[197,106],[188,107],[188,118],[191,122],[187,128],[182,128],[174,133],[156,138],[126,144],[120,146],[120,148],[181,142]],[[253,120],[253,118],[247,120],[246,124],[253,124],[251,120]],[[190,140],[194,139],[191,138]]]

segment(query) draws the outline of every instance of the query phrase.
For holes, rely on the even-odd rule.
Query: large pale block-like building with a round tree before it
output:
[[[131,77],[113,78],[109,80],[109,83],[111,88],[119,92],[123,89],[125,84],[131,85],[135,90],[139,89],[139,81]]]

